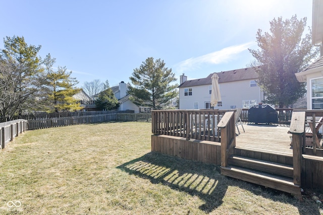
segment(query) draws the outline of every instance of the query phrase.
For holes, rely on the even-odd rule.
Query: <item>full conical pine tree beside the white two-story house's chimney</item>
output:
[[[148,106],[161,109],[177,96],[177,85],[170,85],[176,81],[172,69],[165,67],[164,60],[148,57],[139,68],[135,68],[130,77],[132,85],[129,94],[132,102],[138,106]]]

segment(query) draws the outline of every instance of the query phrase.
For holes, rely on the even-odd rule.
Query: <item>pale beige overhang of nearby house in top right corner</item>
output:
[[[312,43],[322,43],[323,40],[323,0],[313,0],[312,12]]]

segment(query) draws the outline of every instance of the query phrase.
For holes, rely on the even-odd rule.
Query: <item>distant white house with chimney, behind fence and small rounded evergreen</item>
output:
[[[118,86],[111,87],[112,92],[115,94],[115,97],[119,102],[119,111],[123,110],[133,110],[135,113],[150,113],[149,107],[139,107],[132,103],[130,100],[130,94],[128,94],[128,86],[125,82],[120,82]],[[93,96],[95,100],[98,97],[98,94]]]

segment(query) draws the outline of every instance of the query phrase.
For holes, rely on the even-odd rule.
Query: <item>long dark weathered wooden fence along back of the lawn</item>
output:
[[[151,121],[150,113],[107,113],[86,116],[72,116],[60,118],[43,118],[28,120],[28,129],[61,127],[68,125],[90,124],[109,121]]]

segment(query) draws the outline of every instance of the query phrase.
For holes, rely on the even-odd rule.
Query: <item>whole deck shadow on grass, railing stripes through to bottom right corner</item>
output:
[[[150,152],[117,168],[148,179],[151,183],[163,184],[174,190],[187,192],[191,196],[198,196],[205,202],[199,206],[199,209],[206,213],[222,205],[230,185],[274,201],[292,204],[298,207],[299,214],[309,214],[309,211],[310,214],[320,214],[312,202],[299,202],[287,193],[223,176],[220,173],[220,167],[213,164]]]

